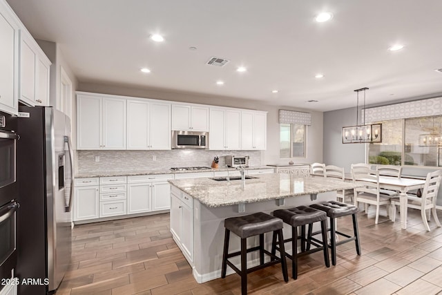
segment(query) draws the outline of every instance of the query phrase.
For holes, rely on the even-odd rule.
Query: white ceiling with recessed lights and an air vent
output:
[[[353,90],[362,87],[370,88],[367,104],[442,93],[442,73],[434,71],[442,68],[440,0],[8,2],[36,39],[59,44],[79,82],[317,111],[356,106]],[[332,20],[314,21],[323,11]],[[164,42],[148,38],[157,32]],[[398,43],[405,48],[388,50]],[[230,62],[207,66],[212,56]]]

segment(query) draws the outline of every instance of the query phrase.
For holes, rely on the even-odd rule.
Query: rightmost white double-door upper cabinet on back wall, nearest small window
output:
[[[267,138],[267,114],[241,112],[241,149],[265,150]]]

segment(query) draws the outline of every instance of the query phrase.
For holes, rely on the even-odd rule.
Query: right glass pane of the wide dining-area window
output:
[[[405,119],[405,163],[441,166],[442,116]]]

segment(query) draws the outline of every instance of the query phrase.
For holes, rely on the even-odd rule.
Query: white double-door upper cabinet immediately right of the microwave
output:
[[[210,109],[209,148],[214,150],[238,150],[241,144],[241,112]]]

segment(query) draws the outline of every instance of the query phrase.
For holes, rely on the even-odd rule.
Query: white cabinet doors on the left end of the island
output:
[[[175,187],[171,191],[171,232],[184,256],[193,261],[193,198]]]

